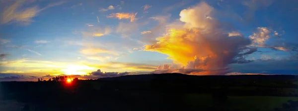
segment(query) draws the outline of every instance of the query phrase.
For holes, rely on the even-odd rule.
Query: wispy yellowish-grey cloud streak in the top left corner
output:
[[[37,16],[39,12],[49,7],[60,5],[64,2],[51,3],[41,9],[38,9],[37,6],[22,9],[21,6],[25,3],[25,0],[15,0],[15,2],[11,5],[4,7],[3,11],[0,13],[0,24],[18,22],[23,25],[28,25],[33,21],[32,18]]]

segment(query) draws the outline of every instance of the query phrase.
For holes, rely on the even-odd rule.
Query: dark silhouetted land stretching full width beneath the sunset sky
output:
[[[2,82],[0,111],[298,111],[297,79],[153,74]]]

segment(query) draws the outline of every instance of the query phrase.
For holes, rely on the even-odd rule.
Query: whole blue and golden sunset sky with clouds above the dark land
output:
[[[0,0],[0,81],[298,74],[297,0]]]

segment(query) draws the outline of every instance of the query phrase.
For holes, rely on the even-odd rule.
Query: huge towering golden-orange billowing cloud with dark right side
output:
[[[145,45],[144,50],[168,55],[168,59],[184,66],[185,70],[181,69],[184,73],[195,70],[222,74],[228,64],[251,62],[245,59],[256,51],[247,47],[250,39],[228,36],[218,28],[219,21],[206,17],[212,16],[213,10],[205,2],[183,9],[180,20],[185,23],[178,29],[169,29],[164,36],[156,38],[156,43]]]

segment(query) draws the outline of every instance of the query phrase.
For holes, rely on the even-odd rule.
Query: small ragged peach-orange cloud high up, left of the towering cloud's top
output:
[[[118,18],[118,19],[130,19],[130,22],[137,20],[136,15],[138,13],[112,13],[108,18]]]

